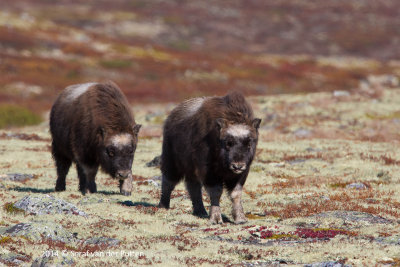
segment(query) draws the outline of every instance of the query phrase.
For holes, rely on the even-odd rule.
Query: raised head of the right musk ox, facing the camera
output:
[[[250,167],[256,151],[260,123],[261,119],[257,118],[250,124],[217,119],[222,164],[234,174],[241,174]]]

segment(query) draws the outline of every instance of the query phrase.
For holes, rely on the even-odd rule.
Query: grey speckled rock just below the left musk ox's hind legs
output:
[[[14,206],[35,215],[64,213],[87,216],[75,205],[50,195],[25,196],[17,201]]]

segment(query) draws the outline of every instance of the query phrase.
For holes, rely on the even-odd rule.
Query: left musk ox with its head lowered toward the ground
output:
[[[120,181],[120,192],[132,192],[132,162],[141,125],[128,100],[112,82],[65,88],[50,112],[52,154],[57,167],[56,191],[65,191],[65,178],[76,164],[79,190],[97,191],[99,166]]]

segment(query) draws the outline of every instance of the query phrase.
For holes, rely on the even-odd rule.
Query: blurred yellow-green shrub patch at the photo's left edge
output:
[[[11,126],[36,125],[42,118],[29,109],[16,105],[0,105],[0,129]]]

